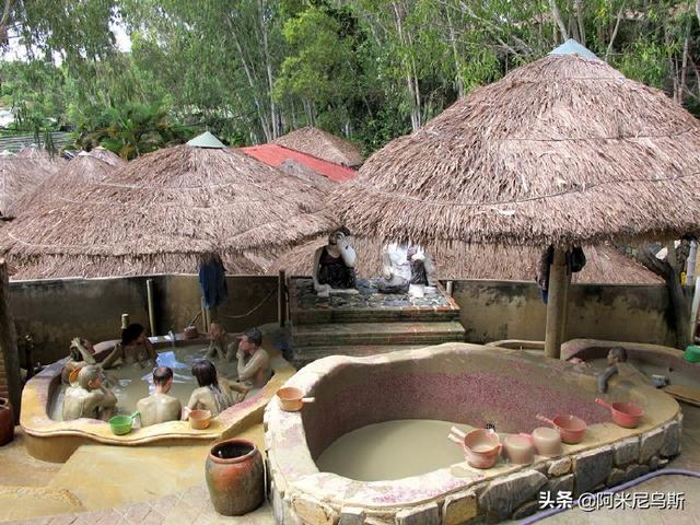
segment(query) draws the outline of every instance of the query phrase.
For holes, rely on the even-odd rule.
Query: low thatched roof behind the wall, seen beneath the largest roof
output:
[[[289,275],[308,276],[316,248],[326,237],[292,248],[272,261],[269,272],[285,270]],[[382,275],[383,243],[357,238],[357,271],[360,277]],[[585,246],[586,265],[573,273],[573,282],[602,284],[663,284],[663,279],[611,246]],[[429,250],[439,279],[495,279],[532,281],[537,273],[541,249],[534,246],[452,245]]]

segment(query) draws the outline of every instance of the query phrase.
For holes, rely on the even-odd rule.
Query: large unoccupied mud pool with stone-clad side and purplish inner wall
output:
[[[645,410],[637,429],[622,429],[595,402],[592,369],[518,350],[446,343],[368,358],[334,355],[308,364],[287,385],[316,402],[284,412],[272,399],[265,411],[272,506],[280,524],[317,523],[318,516],[323,523],[357,521],[358,514],[392,524],[506,520],[532,508],[546,486],[580,494],[633,479],[679,453],[681,415],[670,396],[642,385],[612,385],[606,399],[634,401]],[[319,468],[336,444],[369,425],[432,419],[468,431],[490,423],[503,439],[540,427],[538,412],[583,418],[588,423],[584,441],[563,445],[553,458],[514,465],[501,457],[485,470],[469,467],[463,456],[451,465],[435,456],[429,471],[398,479],[389,479],[387,470],[378,472],[387,477],[366,481]],[[442,439],[444,447],[459,454],[446,434]],[[358,463],[376,446],[361,441],[364,447],[351,452]]]

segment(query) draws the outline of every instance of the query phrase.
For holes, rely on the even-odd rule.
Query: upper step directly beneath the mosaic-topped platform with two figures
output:
[[[451,322],[459,318],[459,308],[452,306],[396,307],[396,308],[314,308],[292,310],[294,325],[320,325],[330,323],[406,323]]]

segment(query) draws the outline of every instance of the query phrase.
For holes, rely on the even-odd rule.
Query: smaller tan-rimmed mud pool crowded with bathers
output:
[[[175,395],[185,401],[195,388],[195,383],[186,383],[190,377],[191,361],[203,353],[208,341],[202,339],[176,339],[175,349],[168,337],[150,338],[160,362],[173,366],[179,376],[175,385]],[[114,348],[116,341],[104,341],[95,345],[95,358],[104,359]],[[269,351],[269,349],[268,349]],[[22,390],[22,412],[20,424],[25,435],[27,452],[46,462],[63,463],[83,444],[103,443],[117,446],[175,446],[194,445],[202,442],[233,438],[252,424],[261,422],[262,411],[278,388],[294,373],[294,369],[284,359],[273,353],[271,365],[272,378],[259,392],[250,392],[245,400],[238,402],[215,418],[206,430],[195,430],[188,421],[168,421],[145,428],[137,428],[126,435],[115,435],[109,424],[96,419],[81,418],[73,421],[59,421],[50,417],[56,410],[58,393],[61,390],[60,373],[66,360],[47,365],[39,374],[27,382]],[[233,371],[235,362],[222,366],[222,375],[235,378]],[[116,369],[118,370],[118,369]],[[112,371],[107,371],[112,372]],[[151,374],[150,369],[129,369],[122,377],[126,389],[117,392],[124,412],[129,412],[138,398],[149,392],[145,380]],[[232,377],[233,376],[233,377]],[[118,389],[117,389],[118,390]],[[60,405],[58,405],[60,406]],[[130,407],[131,406],[131,407]]]

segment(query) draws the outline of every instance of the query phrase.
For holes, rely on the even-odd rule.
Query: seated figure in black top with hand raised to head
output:
[[[358,293],[354,265],[357,254],[352,247],[350,230],[342,226],[328,236],[328,244],[314,254],[314,290],[318,296],[331,293]]]

